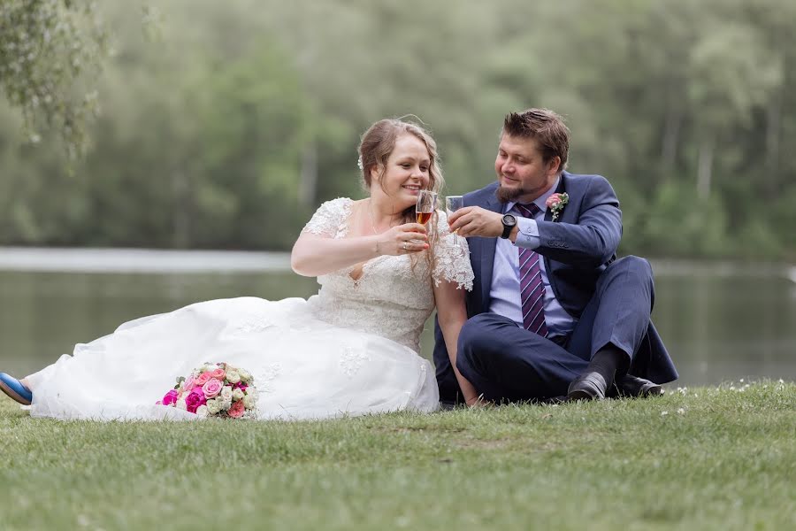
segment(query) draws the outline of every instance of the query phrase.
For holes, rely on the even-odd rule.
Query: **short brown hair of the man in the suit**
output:
[[[523,112],[509,112],[503,119],[501,135],[533,138],[545,162],[557,156],[561,158],[559,171],[567,167],[570,129],[564,125],[563,118],[553,111],[528,109]]]

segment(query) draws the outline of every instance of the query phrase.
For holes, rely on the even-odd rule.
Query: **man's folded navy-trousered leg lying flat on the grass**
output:
[[[587,364],[587,358],[496,313],[468,319],[459,333],[456,367],[495,402],[566,395],[570,381]]]

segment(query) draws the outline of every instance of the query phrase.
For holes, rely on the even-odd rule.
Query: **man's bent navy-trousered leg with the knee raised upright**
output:
[[[618,354],[616,374],[624,374],[647,335],[653,302],[653,273],[647,260],[616,260],[597,281],[567,349],[590,360],[601,350],[614,350]]]

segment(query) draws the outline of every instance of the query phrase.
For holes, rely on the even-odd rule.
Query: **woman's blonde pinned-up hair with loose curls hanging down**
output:
[[[437,153],[437,142],[434,142],[432,135],[423,127],[414,122],[406,121],[405,118],[407,117],[401,119],[380,119],[362,135],[362,141],[359,143],[359,169],[362,173],[364,189],[367,191],[371,190],[371,168],[373,168],[373,166],[380,168],[380,175],[383,175],[386,171],[387,159],[390,158],[390,154],[395,148],[395,141],[398,137],[401,135],[413,135],[417,137],[420,142],[425,144],[425,149],[428,150],[428,156],[431,159],[431,164],[428,167],[428,189],[439,194],[445,184],[445,179],[442,176],[440,156]],[[379,179],[379,186],[384,189],[381,182],[382,181]],[[439,207],[439,205],[437,206]],[[402,212],[402,223],[414,223],[416,221],[415,205],[412,204]],[[437,241],[438,237],[437,231],[432,230],[432,228],[437,227],[437,212],[434,212],[432,219],[428,222],[426,227],[429,228],[429,250],[433,250],[434,243]],[[429,252],[429,259],[431,259],[432,256],[433,252]],[[412,260],[413,265],[414,263],[414,260]]]

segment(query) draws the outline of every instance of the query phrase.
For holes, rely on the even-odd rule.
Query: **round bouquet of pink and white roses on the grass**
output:
[[[174,389],[157,404],[200,417],[255,419],[257,390],[249,371],[226,363],[206,363],[188,378],[180,376]]]

